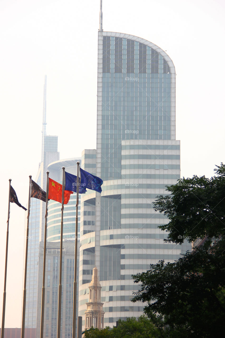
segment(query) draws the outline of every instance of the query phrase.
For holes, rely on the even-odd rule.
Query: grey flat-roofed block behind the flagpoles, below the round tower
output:
[[[64,240],[62,249],[61,338],[72,337],[75,242]],[[47,242],[44,337],[57,337],[60,242]],[[40,337],[44,243],[39,250],[39,284],[36,338]],[[77,319],[77,318],[76,318]],[[77,320],[76,320],[77,321]]]

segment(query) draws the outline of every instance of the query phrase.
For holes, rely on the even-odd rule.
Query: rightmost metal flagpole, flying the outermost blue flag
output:
[[[78,234],[78,203],[80,185],[80,162],[77,162],[77,203],[76,203],[76,229],[75,229],[75,258],[73,283],[73,338],[76,337],[76,309],[77,309],[77,234]]]

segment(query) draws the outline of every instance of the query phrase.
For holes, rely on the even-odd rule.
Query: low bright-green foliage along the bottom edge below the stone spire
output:
[[[152,324],[146,316],[140,316],[138,320],[131,317],[127,320],[119,320],[117,327],[106,327],[102,330],[91,328],[85,331],[85,338],[160,338],[160,330]]]

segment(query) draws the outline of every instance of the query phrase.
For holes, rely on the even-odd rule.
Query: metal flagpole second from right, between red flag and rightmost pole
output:
[[[61,215],[61,235],[60,235],[60,263],[59,263],[59,286],[58,286],[58,332],[57,332],[57,338],[60,338],[60,328],[61,328],[62,234],[63,234],[64,189],[65,189],[65,167],[62,167],[62,215]]]

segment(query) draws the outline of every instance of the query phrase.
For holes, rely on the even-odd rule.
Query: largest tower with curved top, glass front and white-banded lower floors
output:
[[[153,210],[157,195],[180,178],[175,137],[175,68],[153,43],[124,33],[98,32],[97,148],[84,150],[82,168],[103,179],[102,193],[81,198],[79,316],[88,301],[94,266],[102,285],[105,325],[143,313],[131,303],[131,274],[160,259],[172,262],[181,247],[167,244]],[[183,250],[186,248],[183,247]]]

